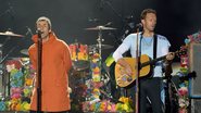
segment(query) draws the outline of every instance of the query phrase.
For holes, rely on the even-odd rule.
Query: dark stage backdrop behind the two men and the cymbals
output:
[[[56,36],[73,43],[97,43],[98,32],[85,30],[88,27],[105,25],[116,30],[104,30],[103,38],[113,49],[102,50],[103,60],[112,53],[123,38],[127,18],[140,22],[143,9],[158,12],[158,34],[164,35],[172,43],[172,51],[185,45],[188,35],[197,33],[201,26],[200,0],[0,0],[0,32],[11,29],[24,38],[0,36],[5,58],[25,56],[20,51],[33,42],[27,27],[36,32],[35,23],[39,16],[48,16]],[[10,52],[10,53],[9,53]],[[175,59],[177,61],[177,59]]]

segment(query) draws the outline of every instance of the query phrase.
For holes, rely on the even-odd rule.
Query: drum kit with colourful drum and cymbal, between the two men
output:
[[[75,99],[76,101],[77,100],[83,101],[89,98],[89,96],[85,96],[83,97],[84,99],[80,99],[79,93],[85,92],[89,83],[96,79],[95,77],[96,74],[101,75],[101,78],[98,79],[97,77],[96,81],[100,80],[106,86],[106,83],[109,81],[110,78],[105,68],[103,67],[103,64],[101,63],[102,61],[101,51],[112,49],[113,46],[102,43],[103,41],[102,32],[115,30],[115,29],[116,28],[105,27],[105,26],[85,28],[85,30],[88,30],[88,32],[98,32],[97,43],[88,46],[79,42],[74,42],[70,45],[70,50],[71,50],[72,61],[73,61],[73,68],[70,72],[70,83],[71,83],[70,87],[75,92],[74,97],[76,98]],[[97,67],[100,67],[98,68],[100,72],[97,70]]]

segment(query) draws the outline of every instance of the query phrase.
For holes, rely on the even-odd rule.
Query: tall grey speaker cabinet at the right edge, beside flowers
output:
[[[189,70],[194,71],[197,76],[189,81],[190,98],[201,99],[201,43],[190,43],[189,50]]]

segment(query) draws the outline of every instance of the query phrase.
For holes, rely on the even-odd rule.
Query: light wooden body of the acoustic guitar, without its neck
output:
[[[131,67],[133,75],[127,75],[125,68],[118,64],[115,65],[115,80],[120,87],[127,87],[136,79],[136,59],[135,58],[123,58]],[[140,63],[149,62],[150,58],[142,54],[140,58]],[[150,73],[150,65],[143,66],[139,72],[139,77],[145,77]]]

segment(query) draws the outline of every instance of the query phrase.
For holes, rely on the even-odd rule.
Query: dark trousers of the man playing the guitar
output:
[[[151,77],[139,80],[139,113],[148,113],[148,99],[153,113],[163,113],[161,100],[162,78]]]

